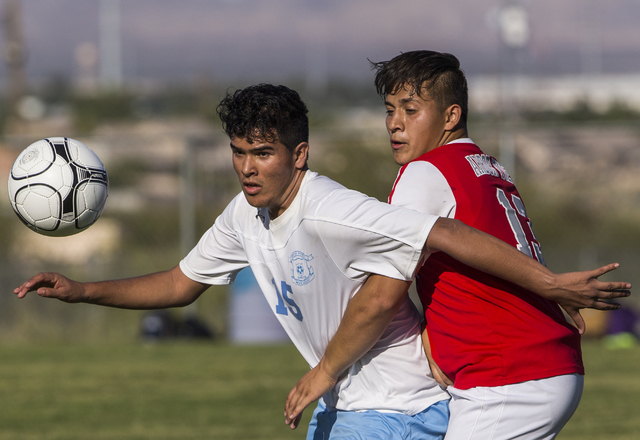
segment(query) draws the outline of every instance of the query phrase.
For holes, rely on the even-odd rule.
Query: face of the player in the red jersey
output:
[[[445,140],[445,112],[438,110],[427,93],[422,95],[411,94],[405,87],[386,97],[387,131],[398,165],[443,145]]]

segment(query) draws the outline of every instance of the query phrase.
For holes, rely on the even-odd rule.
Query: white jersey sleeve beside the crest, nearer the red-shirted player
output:
[[[438,217],[336,191],[319,206],[318,236],[334,264],[352,279],[369,273],[410,280]]]

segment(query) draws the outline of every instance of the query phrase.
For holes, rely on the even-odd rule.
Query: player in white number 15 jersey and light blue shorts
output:
[[[14,292],[123,308],[193,302],[209,285],[251,267],[275,316],[314,367],[350,299],[367,289],[406,291],[425,252],[450,253],[541,294],[598,296],[625,283],[590,273],[555,275],[500,240],[456,220],[397,208],[309,171],[307,109],[284,86],[228,94],[218,107],[242,192],[173,269],[137,278],[76,282],[38,274]],[[397,312],[397,313],[396,313]],[[419,317],[409,300],[379,341],[323,396],[309,439],[441,439],[444,393],[429,374]],[[366,328],[363,331],[368,331]]]

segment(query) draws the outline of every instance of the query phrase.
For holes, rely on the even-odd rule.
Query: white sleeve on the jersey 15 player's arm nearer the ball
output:
[[[238,272],[249,265],[234,228],[237,201],[236,197],[180,262],[180,269],[187,277],[205,284],[230,284]]]

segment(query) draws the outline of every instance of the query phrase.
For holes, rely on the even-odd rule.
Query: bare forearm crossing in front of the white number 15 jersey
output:
[[[410,281],[371,275],[351,299],[319,367],[337,378],[380,339],[398,313]]]

